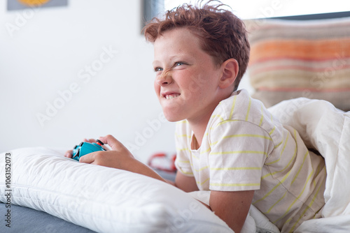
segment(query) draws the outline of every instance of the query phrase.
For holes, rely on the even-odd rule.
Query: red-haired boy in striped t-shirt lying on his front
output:
[[[220,7],[183,5],[144,29],[154,45],[155,93],[165,117],[179,121],[178,172],[174,183],[167,182],[186,192],[211,190],[208,208],[235,232],[251,204],[282,232],[293,232],[302,221],[321,217],[325,164],[293,128],[237,91],[249,44],[243,22]],[[111,135],[99,140],[112,150],[80,162],[165,181]]]

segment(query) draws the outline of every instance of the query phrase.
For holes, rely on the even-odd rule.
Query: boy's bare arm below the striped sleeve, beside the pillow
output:
[[[210,193],[211,211],[225,221],[236,233],[241,232],[246,216],[251,207],[254,190],[248,191],[214,191]]]

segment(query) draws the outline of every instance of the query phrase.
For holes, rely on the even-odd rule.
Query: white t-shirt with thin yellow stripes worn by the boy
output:
[[[318,218],[325,201],[325,163],[300,135],[245,90],[216,107],[195,149],[188,121],[176,123],[176,167],[200,190],[255,190],[253,204],[280,230]]]

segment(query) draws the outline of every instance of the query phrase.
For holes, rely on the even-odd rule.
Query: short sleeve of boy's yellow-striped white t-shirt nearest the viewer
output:
[[[259,126],[239,120],[221,121],[209,133],[210,190],[258,190],[262,167],[274,149]]]

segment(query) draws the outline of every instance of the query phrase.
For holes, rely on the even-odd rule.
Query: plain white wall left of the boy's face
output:
[[[24,11],[7,11],[2,2],[0,152],[71,149],[85,137],[112,134],[141,160],[174,153],[174,123],[159,119],[140,0]]]

